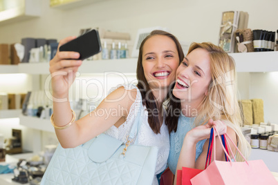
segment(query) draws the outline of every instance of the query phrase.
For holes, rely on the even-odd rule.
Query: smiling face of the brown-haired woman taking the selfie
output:
[[[175,80],[179,57],[176,43],[167,36],[149,38],[142,50],[142,67],[149,87],[168,88]]]

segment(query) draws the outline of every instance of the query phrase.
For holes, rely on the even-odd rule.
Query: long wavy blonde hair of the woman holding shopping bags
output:
[[[222,48],[212,43],[192,43],[188,54],[196,48],[207,50],[210,55],[210,69],[212,81],[207,93],[199,106],[195,124],[205,124],[208,119],[225,121],[227,126],[237,134],[238,148],[244,157],[250,155],[250,144],[241,131],[241,109],[237,100],[237,72],[234,59]],[[241,155],[237,155],[237,161],[243,161]]]

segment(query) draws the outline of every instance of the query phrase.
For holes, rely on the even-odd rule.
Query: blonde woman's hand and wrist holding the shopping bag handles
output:
[[[223,135],[227,132],[227,126],[223,121],[213,121],[212,119],[210,119],[207,124],[196,126],[192,130],[190,130],[187,135],[185,135],[185,138],[187,140],[190,140],[191,142],[194,142],[195,144],[203,139],[208,139],[210,138],[210,130],[212,126],[216,128],[216,130],[219,132],[219,135]]]

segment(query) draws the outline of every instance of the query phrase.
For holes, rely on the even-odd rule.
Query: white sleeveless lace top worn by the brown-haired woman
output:
[[[131,90],[136,88],[135,86],[127,86],[123,85],[125,89]],[[116,139],[119,139],[120,141],[124,142],[127,138],[127,135],[129,134],[131,130],[131,126],[136,119],[136,115],[139,112],[139,108],[142,107],[144,110],[142,110],[142,124],[140,126],[140,130],[138,133],[138,137],[136,138],[138,141],[138,144],[143,146],[157,146],[158,149],[158,159],[156,163],[156,175],[161,173],[165,170],[167,166],[167,159],[169,155],[169,132],[168,128],[165,125],[165,120],[163,119],[163,125],[160,128],[160,134],[154,133],[153,130],[151,130],[151,127],[149,126],[148,122],[148,113],[145,106],[140,106],[141,104],[141,95],[140,91],[137,89],[137,95],[136,100],[131,105],[131,108],[129,110],[129,115],[127,116],[127,121],[125,121],[119,128],[115,126],[111,126],[108,130],[106,130],[106,135],[110,135],[111,137],[114,137]],[[154,176],[153,185],[158,185],[158,179]]]

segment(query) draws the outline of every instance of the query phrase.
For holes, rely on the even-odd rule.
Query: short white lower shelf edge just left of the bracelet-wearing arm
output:
[[[28,128],[55,133],[49,119],[39,119],[37,117],[19,115],[19,124],[27,126]]]

